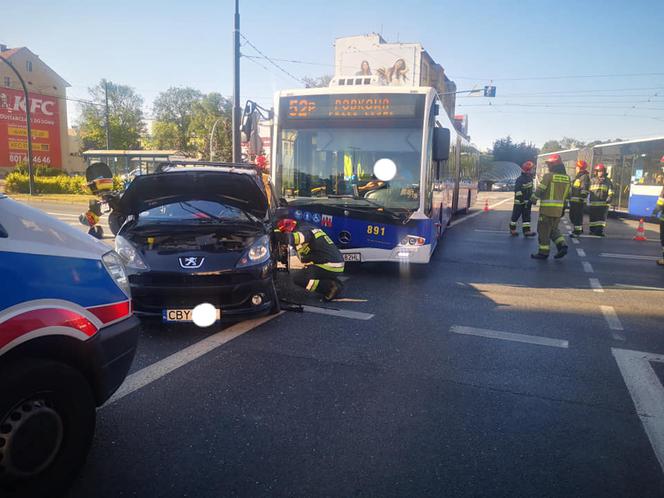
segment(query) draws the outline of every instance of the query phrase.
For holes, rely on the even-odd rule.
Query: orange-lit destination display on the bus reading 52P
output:
[[[416,118],[415,95],[303,95],[281,99],[281,115],[288,120]]]

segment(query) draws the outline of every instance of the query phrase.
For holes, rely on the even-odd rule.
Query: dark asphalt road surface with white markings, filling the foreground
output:
[[[312,307],[146,324],[69,498],[664,496],[654,225],[542,262],[482,205],[426,267],[351,267],[326,314],[285,290]]]

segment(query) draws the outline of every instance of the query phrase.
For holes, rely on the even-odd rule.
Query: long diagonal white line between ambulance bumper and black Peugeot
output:
[[[191,363],[192,361],[200,358],[206,353],[223,346],[229,341],[232,341],[236,337],[241,336],[245,332],[255,329],[259,325],[264,324],[272,320],[273,318],[279,315],[271,315],[263,318],[257,318],[255,320],[247,320],[244,322],[236,323],[231,325],[227,329],[217,332],[209,337],[206,337],[202,341],[198,341],[195,344],[192,344],[189,347],[186,347],[177,353],[174,353],[166,358],[153,363],[137,372],[134,372],[131,375],[128,375],[124,383],[120,386],[120,389],[109,399],[104,407],[115,403],[116,401],[124,398],[128,394],[137,391],[148,384],[151,384],[155,380],[159,380],[165,375],[168,375],[174,370]]]

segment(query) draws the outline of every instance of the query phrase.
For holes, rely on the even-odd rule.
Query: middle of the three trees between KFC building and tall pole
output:
[[[195,105],[203,94],[190,87],[171,87],[161,92],[154,101],[156,118],[152,130],[152,143],[160,148],[193,152],[191,121]]]

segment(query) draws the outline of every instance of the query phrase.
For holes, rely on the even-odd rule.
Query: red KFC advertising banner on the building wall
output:
[[[32,160],[35,166],[62,167],[58,99],[30,94]],[[25,96],[22,91],[0,88],[0,166],[28,162]]]

